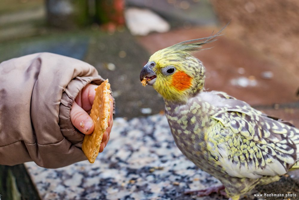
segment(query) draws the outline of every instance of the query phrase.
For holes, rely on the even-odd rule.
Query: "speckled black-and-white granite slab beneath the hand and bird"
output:
[[[164,115],[116,118],[109,145],[94,164],[59,169],[26,163],[42,199],[225,199],[185,195],[220,182],[176,147]]]

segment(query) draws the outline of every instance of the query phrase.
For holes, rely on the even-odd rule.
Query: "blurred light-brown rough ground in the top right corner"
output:
[[[211,3],[222,23],[232,19],[226,30],[228,37],[278,62],[299,79],[299,1],[211,0]]]

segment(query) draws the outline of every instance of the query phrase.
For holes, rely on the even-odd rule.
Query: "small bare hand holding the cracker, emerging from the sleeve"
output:
[[[94,89],[97,87],[98,85],[86,85],[77,95],[71,109],[71,122],[74,127],[86,135],[89,135],[94,131],[94,123],[89,114],[94,101]],[[113,99],[111,95],[110,98]],[[108,128],[103,135],[99,152],[104,150],[110,138],[110,132],[113,125],[113,101],[110,101],[110,108],[110,120],[108,122]]]

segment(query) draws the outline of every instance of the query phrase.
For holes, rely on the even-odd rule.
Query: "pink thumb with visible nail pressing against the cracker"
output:
[[[94,130],[94,123],[91,117],[76,102],[71,109],[71,122],[80,132],[91,134]]]

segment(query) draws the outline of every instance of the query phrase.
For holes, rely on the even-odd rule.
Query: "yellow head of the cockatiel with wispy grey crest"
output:
[[[166,101],[186,102],[202,91],[205,83],[205,67],[192,53],[215,41],[224,28],[210,37],[187,40],[155,52],[142,68],[140,81],[152,85]]]

